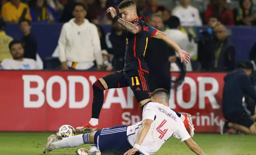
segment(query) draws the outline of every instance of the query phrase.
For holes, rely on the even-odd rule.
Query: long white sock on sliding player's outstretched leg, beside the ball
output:
[[[71,136],[68,138],[64,138],[58,142],[53,142],[50,144],[50,148],[52,149],[60,149],[66,147],[76,147],[83,145],[83,134],[78,134],[76,136]]]

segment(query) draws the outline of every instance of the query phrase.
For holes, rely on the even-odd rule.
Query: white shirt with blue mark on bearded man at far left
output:
[[[41,70],[37,62],[33,59],[24,58],[23,61],[14,59],[4,59],[1,63],[4,70]]]

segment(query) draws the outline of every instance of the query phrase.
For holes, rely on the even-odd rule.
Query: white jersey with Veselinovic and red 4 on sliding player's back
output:
[[[168,106],[149,102],[143,109],[142,121],[145,119],[153,122],[139,149],[143,155],[153,155],[171,136],[180,139],[180,142],[190,138],[180,117]],[[132,146],[136,142],[142,121],[127,128],[128,142]]]

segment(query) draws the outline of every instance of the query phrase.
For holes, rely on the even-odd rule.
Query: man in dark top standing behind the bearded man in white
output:
[[[20,29],[23,33],[21,41],[25,43],[24,58],[37,59],[37,41],[31,35],[31,22],[27,19],[19,22]]]

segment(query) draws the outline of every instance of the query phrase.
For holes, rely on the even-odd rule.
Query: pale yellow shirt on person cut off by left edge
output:
[[[4,31],[0,32],[0,61],[12,58],[8,47],[12,40],[13,38],[6,35]]]

